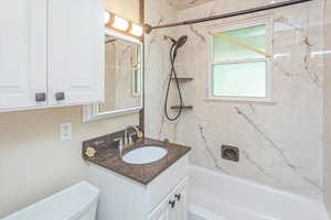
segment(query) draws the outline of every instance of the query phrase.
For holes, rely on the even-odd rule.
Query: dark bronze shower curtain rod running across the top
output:
[[[267,11],[270,9],[278,9],[278,8],[282,8],[282,7],[305,3],[308,1],[313,1],[313,0],[289,0],[289,1],[278,2],[278,3],[267,4],[267,6],[263,6],[263,7],[246,9],[246,10],[242,10],[242,11],[229,12],[229,13],[224,13],[224,14],[218,14],[218,15],[213,15],[213,16],[207,16],[207,18],[202,18],[202,19],[194,19],[194,20],[189,20],[189,21],[182,21],[182,22],[177,22],[177,23],[162,24],[162,25],[157,25],[157,26],[151,26],[149,24],[145,24],[145,31],[146,31],[146,33],[149,34],[151,31],[157,30],[157,29],[166,29],[166,28],[172,28],[172,26],[181,26],[181,25],[188,25],[188,24],[202,23],[202,22],[207,22],[207,21],[213,21],[213,20],[218,20],[218,19],[226,19],[226,18],[244,15],[244,14],[249,14],[249,13],[255,13],[255,12],[260,12],[260,11]]]

